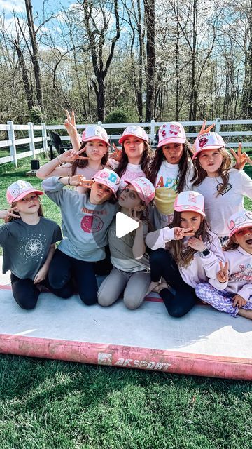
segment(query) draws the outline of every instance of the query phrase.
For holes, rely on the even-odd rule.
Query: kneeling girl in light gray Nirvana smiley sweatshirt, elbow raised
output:
[[[50,177],[42,182],[45,194],[61,209],[65,238],[59,243],[49,271],[50,283],[62,288],[76,281],[80,299],[87,305],[97,302],[94,262],[103,260],[107,230],[116,209],[120,178],[104,168],[86,181],[82,175]],[[64,189],[66,185],[90,187],[86,194]]]

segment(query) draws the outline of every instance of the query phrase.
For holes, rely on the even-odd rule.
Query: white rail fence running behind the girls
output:
[[[156,122],[152,120],[150,123],[106,123],[98,122],[99,125],[104,128],[109,129],[118,129],[118,128],[126,128],[130,124],[135,124],[142,126],[143,128],[149,128],[151,131],[148,133],[148,137],[152,140],[155,139],[156,130],[162,125],[162,121]],[[202,121],[182,121],[183,126],[200,126],[202,125]],[[207,125],[211,125],[212,123],[216,124],[214,130],[217,133],[220,133],[224,138],[232,138],[233,136],[239,138],[237,140],[241,140],[246,136],[251,136],[250,142],[244,142],[243,147],[252,147],[252,130],[251,131],[221,131],[221,126],[236,126],[236,125],[251,125],[252,120],[221,120],[216,119],[214,121],[207,121]],[[83,130],[88,125],[77,125],[78,130]],[[16,167],[18,167],[18,159],[23,159],[28,156],[32,156],[35,159],[36,154],[41,152],[45,152],[48,150],[48,136],[47,130],[64,130],[64,125],[46,125],[45,123],[41,123],[41,125],[34,125],[34,123],[27,123],[27,125],[15,125],[13,121],[8,121],[6,125],[0,125],[1,131],[8,131],[8,140],[0,140],[0,156],[1,156],[1,148],[8,147],[8,151],[10,152],[9,156],[0,157],[0,165],[6,162],[13,162]],[[18,130],[27,130],[28,138],[17,139],[15,136],[15,131]],[[34,137],[34,130],[41,130],[41,137]],[[59,132],[60,133],[60,132]],[[195,138],[197,133],[186,133],[188,138]],[[69,136],[62,135],[62,141],[69,140]],[[118,140],[120,138],[120,134],[112,133],[110,136],[111,140]],[[225,140],[225,139],[224,139]],[[41,147],[35,149],[35,143],[41,142]],[[17,152],[18,145],[29,144],[29,151],[27,152]],[[238,147],[238,142],[228,142],[228,147]]]

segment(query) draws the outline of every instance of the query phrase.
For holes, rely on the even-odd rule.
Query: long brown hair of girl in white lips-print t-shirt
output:
[[[218,170],[218,176],[221,176],[221,179],[223,180],[223,185],[221,189],[218,190],[216,196],[221,195],[228,185],[229,170],[232,163],[231,156],[228,153],[228,150],[225,149],[225,147],[221,147],[218,150],[221,153],[221,156],[223,156],[221,167]],[[197,157],[195,159],[195,174],[193,175],[191,182],[193,182],[193,185],[200,185],[202,181],[205,179],[205,177],[207,177],[207,171],[204,170],[204,168],[202,168],[202,166],[200,165],[199,157]]]

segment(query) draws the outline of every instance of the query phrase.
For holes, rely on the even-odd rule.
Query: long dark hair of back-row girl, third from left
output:
[[[183,144],[183,154],[179,161],[179,173],[177,179],[178,193],[183,192],[186,185],[186,174],[188,171],[188,157],[190,157],[190,143],[186,140]],[[162,162],[166,161],[165,154],[162,151],[162,147],[159,147],[155,151],[155,155],[148,166],[146,177],[155,185],[155,180],[158,176],[158,170],[160,169]]]

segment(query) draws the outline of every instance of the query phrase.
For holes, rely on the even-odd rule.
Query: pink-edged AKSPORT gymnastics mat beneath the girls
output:
[[[137,310],[123,300],[87,307],[78,295],[41,293],[20,309],[9,275],[0,276],[0,353],[106,366],[252,380],[252,321],[198,304],[181,319],[158,295]]]

